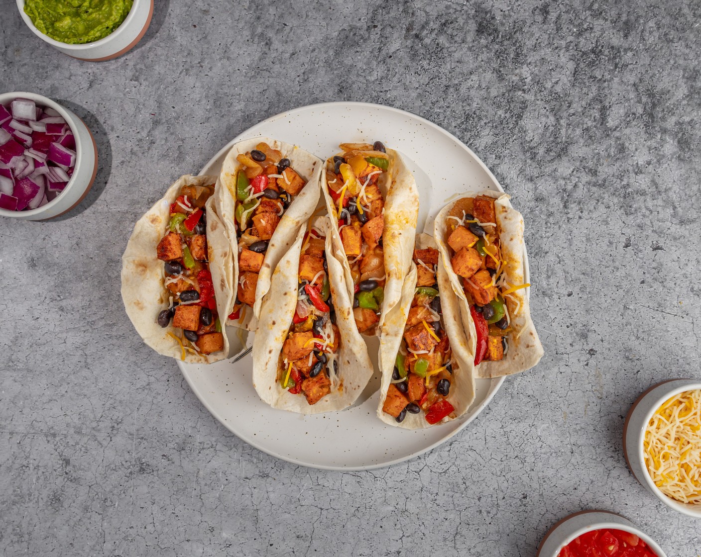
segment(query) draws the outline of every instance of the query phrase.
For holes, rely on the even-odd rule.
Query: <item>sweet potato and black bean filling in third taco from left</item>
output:
[[[325,237],[311,228],[299,257],[297,308],[278,360],[277,380],[292,394],[316,404],[337,383],[336,353],[341,334],[326,263]]]

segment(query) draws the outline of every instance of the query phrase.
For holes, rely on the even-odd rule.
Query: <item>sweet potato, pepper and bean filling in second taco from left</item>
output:
[[[275,228],[306,181],[292,168],[289,158],[267,143],[236,156],[242,165],[236,173],[236,235],[238,240],[238,291],[229,319],[243,319],[245,305],[256,301],[258,273]],[[233,193],[233,192],[232,192]]]

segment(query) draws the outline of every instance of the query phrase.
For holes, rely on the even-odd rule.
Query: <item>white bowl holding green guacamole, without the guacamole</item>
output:
[[[122,25],[104,39],[85,44],[68,44],[55,41],[36,29],[29,15],[25,13],[25,0],[16,1],[22,19],[36,36],[62,53],[88,62],[112,60],[134,48],[136,43],[146,34],[151,23],[151,15],[154,14],[154,0],[134,0],[134,4]]]

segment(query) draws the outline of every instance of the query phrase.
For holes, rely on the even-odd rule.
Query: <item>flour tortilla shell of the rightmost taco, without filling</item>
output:
[[[511,206],[509,201],[510,195],[498,191],[470,191],[461,193],[459,198],[475,198],[477,195],[489,195],[489,197],[496,200],[494,202],[494,211],[496,214],[496,225],[499,231],[499,240],[501,241],[501,256],[502,259],[506,261],[504,270],[506,280],[513,286],[523,284],[523,216]],[[446,220],[453,205],[455,205],[455,202],[449,203],[446,207],[443,207],[436,216],[434,236],[438,244],[438,249],[440,249],[444,266],[450,277],[453,290],[460,300],[461,317],[465,327],[470,331],[470,336],[472,337],[471,343],[473,346],[472,354],[474,355],[476,346],[475,339],[477,337],[475,323],[472,322],[472,317],[470,316],[470,308],[465,292],[463,291],[461,277],[456,275],[453,271],[453,266],[450,262],[452,250],[447,243],[450,233]],[[505,301],[511,317],[512,328],[517,332],[507,336],[508,352],[505,357],[498,362],[482,362],[479,364],[476,367],[477,377],[501,377],[526,371],[538,364],[540,358],[543,357],[543,345],[540,344],[536,326],[533,325],[533,320],[531,319],[531,310],[528,296],[526,296],[526,289],[512,292],[512,294],[505,298]],[[516,310],[519,304],[520,307],[517,313]],[[516,338],[517,335],[519,335],[518,338]]]

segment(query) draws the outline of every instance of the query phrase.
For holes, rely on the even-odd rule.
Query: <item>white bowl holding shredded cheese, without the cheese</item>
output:
[[[655,495],[660,501],[688,516],[701,518],[701,505],[682,503],[667,497],[655,486],[648,467],[645,464],[644,446],[645,429],[650,422],[655,411],[668,399],[684,391],[701,389],[701,383],[691,379],[672,379],[664,383],[658,383],[646,390],[630,407],[623,426],[623,453],[628,462],[630,471],[648,491]]]

